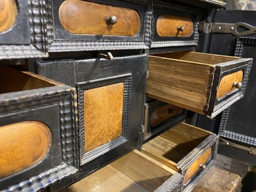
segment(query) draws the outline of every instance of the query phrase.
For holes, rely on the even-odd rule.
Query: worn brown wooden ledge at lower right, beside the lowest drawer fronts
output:
[[[239,187],[248,170],[248,164],[217,154],[210,171],[193,192],[233,192]]]

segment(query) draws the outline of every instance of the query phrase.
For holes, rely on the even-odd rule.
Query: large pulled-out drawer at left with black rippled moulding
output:
[[[0,190],[40,190],[77,172],[75,88],[0,68]]]

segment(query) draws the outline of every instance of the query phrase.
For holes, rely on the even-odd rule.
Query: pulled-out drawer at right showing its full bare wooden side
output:
[[[252,59],[183,51],[149,56],[148,96],[215,117],[244,96]]]

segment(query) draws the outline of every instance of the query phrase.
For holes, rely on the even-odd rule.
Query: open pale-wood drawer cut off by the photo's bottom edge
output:
[[[181,191],[178,172],[134,150],[108,164],[67,191]]]

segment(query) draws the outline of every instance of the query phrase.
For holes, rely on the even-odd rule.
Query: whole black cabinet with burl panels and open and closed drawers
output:
[[[0,1],[0,191],[191,191],[218,135],[186,110],[241,99],[252,64],[194,51],[226,3]]]

